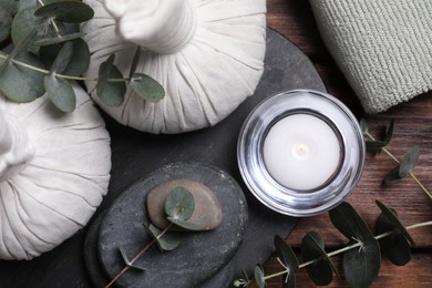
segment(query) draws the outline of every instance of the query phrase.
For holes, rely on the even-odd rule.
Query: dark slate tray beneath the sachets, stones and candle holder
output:
[[[284,90],[326,91],[309,59],[291,42],[268,29],[266,70],[254,94],[214,127],[178,135],[152,135],[124,127],[106,115],[112,136],[112,178],[93,219],[135,181],[175,161],[208,163],[228,172],[243,187],[249,206],[246,237],[225,272],[251,271],[274,251],[276,234],[286,237],[297,219],[276,214],[258,203],[244,185],[236,158],[237,136],[248,113],[265,97]],[[0,261],[0,287],[93,287],[83,259],[90,225],[55,249],[30,261]],[[225,284],[224,284],[225,285]],[[206,287],[223,287],[217,281]]]

